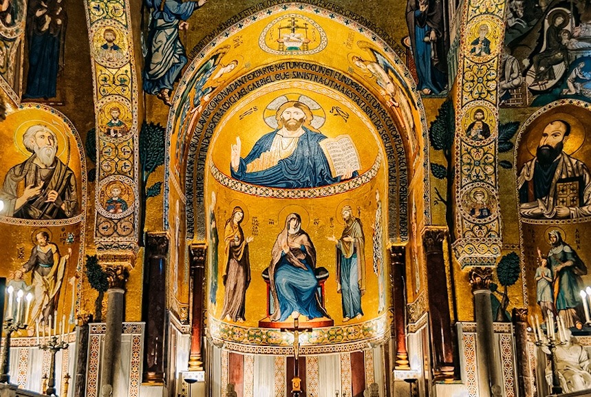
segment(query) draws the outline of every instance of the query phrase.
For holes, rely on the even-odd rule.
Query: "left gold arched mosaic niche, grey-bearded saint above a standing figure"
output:
[[[32,336],[36,321],[49,321],[58,312],[61,328],[62,315],[74,321],[80,310],[82,278],[76,275],[84,258],[85,153],[72,122],[46,105],[21,104],[0,123],[0,136],[5,143],[0,147],[0,232],[7,249],[14,250],[0,276],[15,290],[32,294],[23,313],[28,328],[19,331]],[[12,297],[16,300],[16,294]],[[12,306],[16,310],[16,301]]]

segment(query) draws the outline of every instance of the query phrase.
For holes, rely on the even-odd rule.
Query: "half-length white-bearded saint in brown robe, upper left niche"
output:
[[[56,157],[56,134],[32,125],[23,135],[30,158],[12,167],[0,191],[0,215],[21,219],[65,219],[77,215],[78,193],[72,169]]]

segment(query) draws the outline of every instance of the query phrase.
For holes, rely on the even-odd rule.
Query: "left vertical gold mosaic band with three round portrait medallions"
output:
[[[138,82],[129,18],[108,2],[87,4],[98,131],[94,237],[100,249],[133,248],[138,239]]]

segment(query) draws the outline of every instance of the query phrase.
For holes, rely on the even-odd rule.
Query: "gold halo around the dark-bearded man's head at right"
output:
[[[537,147],[539,146],[539,139],[532,139],[533,137],[530,137],[530,135],[533,133],[539,133],[539,136],[541,136],[541,133],[542,133],[542,131],[544,131],[544,128],[546,128],[546,126],[548,124],[550,124],[550,122],[556,121],[556,120],[564,120],[564,121],[568,122],[568,124],[570,124],[570,134],[568,136],[568,139],[564,143],[564,148],[562,149],[563,152],[568,155],[572,155],[572,153],[575,153],[579,149],[581,149],[581,147],[583,146],[583,143],[585,142],[585,138],[587,137],[587,131],[586,131],[586,128],[585,128],[585,125],[583,124],[583,122],[581,122],[581,120],[579,120],[579,118],[577,118],[576,116],[572,116],[568,113],[547,112],[547,113],[541,114],[535,120],[535,122],[528,125],[528,128],[527,128],[527,134],[528,134],[527,148],[528,148],[528,152],[530,153],[530,155],[535,157]],[[534,131],[534,129],[535,129],[535,131]]]

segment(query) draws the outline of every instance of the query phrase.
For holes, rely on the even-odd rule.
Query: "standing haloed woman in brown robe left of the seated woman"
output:
[[[222,319],[226,321],[244,321],[244,302],[246,289],[250,284],[250,260],[248,244],[252,237],[244,238],[240,224],[244,219],[244,211],[234,207],[232,215],[226,221],[224,242],[226,244],[226,272],[222,281],[226,286]]]

